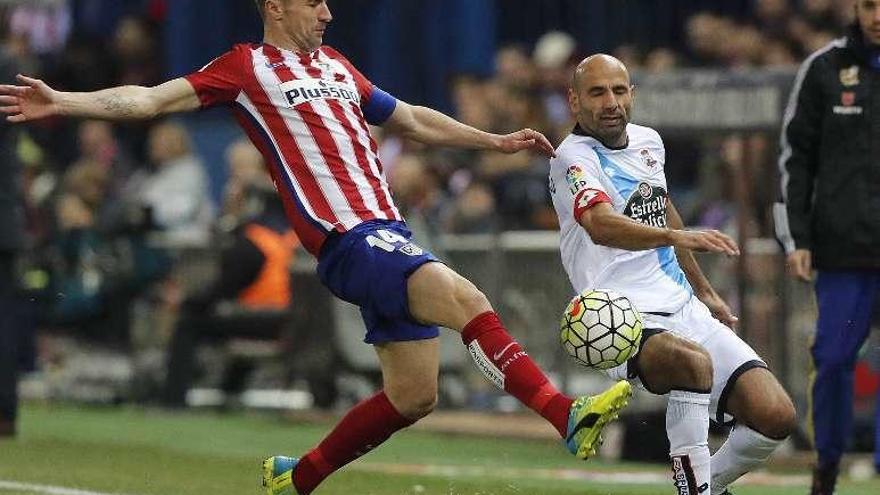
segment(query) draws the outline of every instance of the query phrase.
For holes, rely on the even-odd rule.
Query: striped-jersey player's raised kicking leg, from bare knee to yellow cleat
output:
[[[504,328],[489,301],[446,265],[428,263],[408,280],[410,313],[416,320],[461,332],[477,367],[492,383],[546,419],[581,458],[595,454],[601,430],[631,395],[628,383],[575,403],[560,393]],[[570,426],[570,418],[577,419]],[[571,450],[571,448],[570,448]]]

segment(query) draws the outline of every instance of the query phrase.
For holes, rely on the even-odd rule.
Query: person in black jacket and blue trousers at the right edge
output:
[[[855,0],[855,13],[848,35],[810,55],[795,79],[779,158],[784,204],[774,211],[792,275],[818,272],[814,495],[834,492],[856,355],[880,293],[880,0]],[[880,472],[880,449],[874,462]]]

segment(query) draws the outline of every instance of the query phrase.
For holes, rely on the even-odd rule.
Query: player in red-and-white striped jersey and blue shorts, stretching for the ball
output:
[[[356,405],[301,458],[263,463],[269,495],[305,495],[327,476],[430,413],[437,401],[439,330],[461,333],[480,370],[553,425],[580,458],[595,454],[603,426],[631,394],[627,381],[593,397],[560,393],[514,341],[486,297],[411,241],[394,206],[367,124],[430,145],[534,149],[553,155],[531,129],[490,134],[399,101],[322,45],[332,19],[325,0],[257,0],[264,41],[236,45],[202,70],[153,88],[55,91],[19,76],[0,86],[10,122],[55,115],[147,119],[226,105],[262,152],[322,282],[361,308],[383,390]],[[326,332],[327,329],[313,329]]]

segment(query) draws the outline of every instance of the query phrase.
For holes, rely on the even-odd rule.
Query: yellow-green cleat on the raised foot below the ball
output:
[[[632,385],[626,380],[615,383],[598,395],[578,397],[568,413],[568,432],[565,446],[580,459],[596,455],[602,444],[602,428],[617,419],[632,396]]]

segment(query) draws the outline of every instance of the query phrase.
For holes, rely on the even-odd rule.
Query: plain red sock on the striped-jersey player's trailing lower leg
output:
[[[308,495],[331,473],[415,423],[401,416],[384,391],[357,404],[293,470],[297,493]]]

